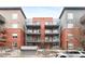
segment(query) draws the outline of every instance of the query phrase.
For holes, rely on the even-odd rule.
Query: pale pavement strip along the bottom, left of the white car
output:
[[[58,50],[43,50],[39,49],[36,51],[20,51],[13,50],[11,52],[3,51],[0,53],[0,57],[55,57]]]

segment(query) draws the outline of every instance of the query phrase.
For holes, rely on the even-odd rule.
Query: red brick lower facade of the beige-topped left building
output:
[[[17,38],[13,38],[12,34],[17,34]],[[17,42],[17,48],[24,46],[24,31],[19,28],[8,28],[6,29],[6,46],[12,48],[12,43]]]

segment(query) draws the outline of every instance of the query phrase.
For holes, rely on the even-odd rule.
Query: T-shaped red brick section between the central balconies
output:
[[[41,24],[41,43],[39,43],[39,48],[44,46],[45,49],[49,49],[52,47],[52,43],[45,43],[45,22],[53,22],[53,17],[33,17],[32,22],[40,22]]]

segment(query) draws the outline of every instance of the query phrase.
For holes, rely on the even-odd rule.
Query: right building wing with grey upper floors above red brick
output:
[[[61,21],[61,48],[80,49],[81,36],[85,22],[85,8],[63,8],[59,18]],[[83,35],[85,36],[85,35]]]

